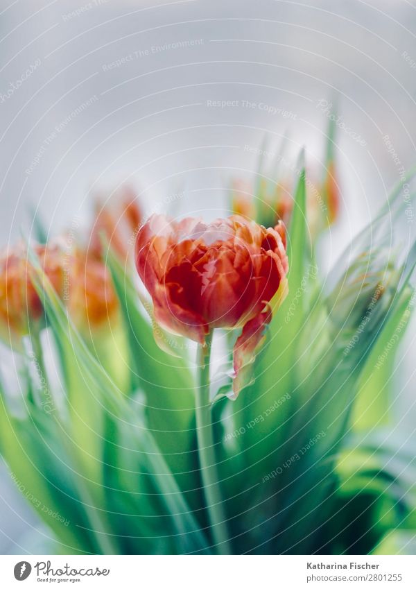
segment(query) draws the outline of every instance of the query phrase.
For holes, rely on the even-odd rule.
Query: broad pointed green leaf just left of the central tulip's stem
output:
[[[146,418],[155,441],[166,456],[166,462],[180,488],[187,492],[191,505],[198,509],[201,495],[195,434],[194,379],[183,357],[166,354],[155,342],[152,326],[139,311],[139,294],[128,271],[109,250],[107,264],[119,297],[125,329],[128,330],[130,356],[134,367],[133,386],[146,395]],[[146,303],[147,309],[150,305]],[[151,312],[151,311],[150,311]],[[154,319],[153,319],[154,322]],[[155,325],[155,323],[154,323]],[[159,330],[157,336],[165,338]],[[166,345],[180,350],[173,336]]]

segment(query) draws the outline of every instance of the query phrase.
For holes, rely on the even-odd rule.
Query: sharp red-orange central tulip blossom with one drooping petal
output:
[[[216,327],[243,328],[234,347],[234,395],[270,312],[286,291],[283,228],[234,215],[204,223],[153,215],[139,231],[136,266],[166,330],[204,345]]]

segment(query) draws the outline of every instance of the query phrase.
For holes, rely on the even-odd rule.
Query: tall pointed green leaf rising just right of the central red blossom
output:
[[[225,486],[229,486],[231,496],[244,493],[245,516],[241,518],[242,527],[249,525],[254,512],[259,513],[256,506],[265,499],[263,493],[266,493],[266,497],[270,494],[271,487],[262,486],[261,480],[277,466],[279,456],[286,456],[288,422],[297,405],[298,342],[303,329],[304,310],[311,296],[311,283],[316,280],[311,275],[307,241],[303,157],[302,153],[297,167],[301,172],[295,194],[295,208],[288,232],[288,296],[270,323],[269,341],[259,352],[254,366],[254,384],[241,392],[233,403],[232,418],[225,422],[225,456],[223,463],[220,463],[220,476],[225,479]],[[228,448],[234,446],[236,449],[229,452]],[[243,470],[242,463],[245,465]],[[248,509],[250,506],[252,509]],[[270,509],[266,504],[264,508],[266,511]],[[229,510],[233,515],[241,513],[240,503],[230,500]],[[236,533],[240,533],[240,530],[236,530]],[[241,545],[250,543],[246,536],[241,536]],[[257,540],[254,538],[252,541],[255,543]]]

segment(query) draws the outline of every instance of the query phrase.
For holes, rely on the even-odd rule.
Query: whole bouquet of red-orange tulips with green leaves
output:
[[[322,275],[329,137],[321,182],[303,155],[291,176],[261,162],[225,219],[145,221],[123,190],[87,240],[37,222],[3,255],[19,379],[1,384],[0,452],[42,552],[415,548],[415,454],[389,422],[414,301],[415,246],[390,243],[404,182]]]

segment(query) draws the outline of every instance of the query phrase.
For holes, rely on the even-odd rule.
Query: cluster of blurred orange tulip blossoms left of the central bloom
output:
[[[96,203],[96,219],[90,231],[89,245],[79,243],[67,248],[67,240],[55,239],[33,250],[44,275],[67,305],[72,321],[80,331],[96,330],[110,322],[119,307],[110,273],[103,257],[103,239],[117,255],[128,254],[128,240],[141,221],[135,196],[125,189],[110,201]],[[21,338],[44,326],[43,305],[28,261],[28,248],[17,244],[0,258],[0,338],[15,350]]]

